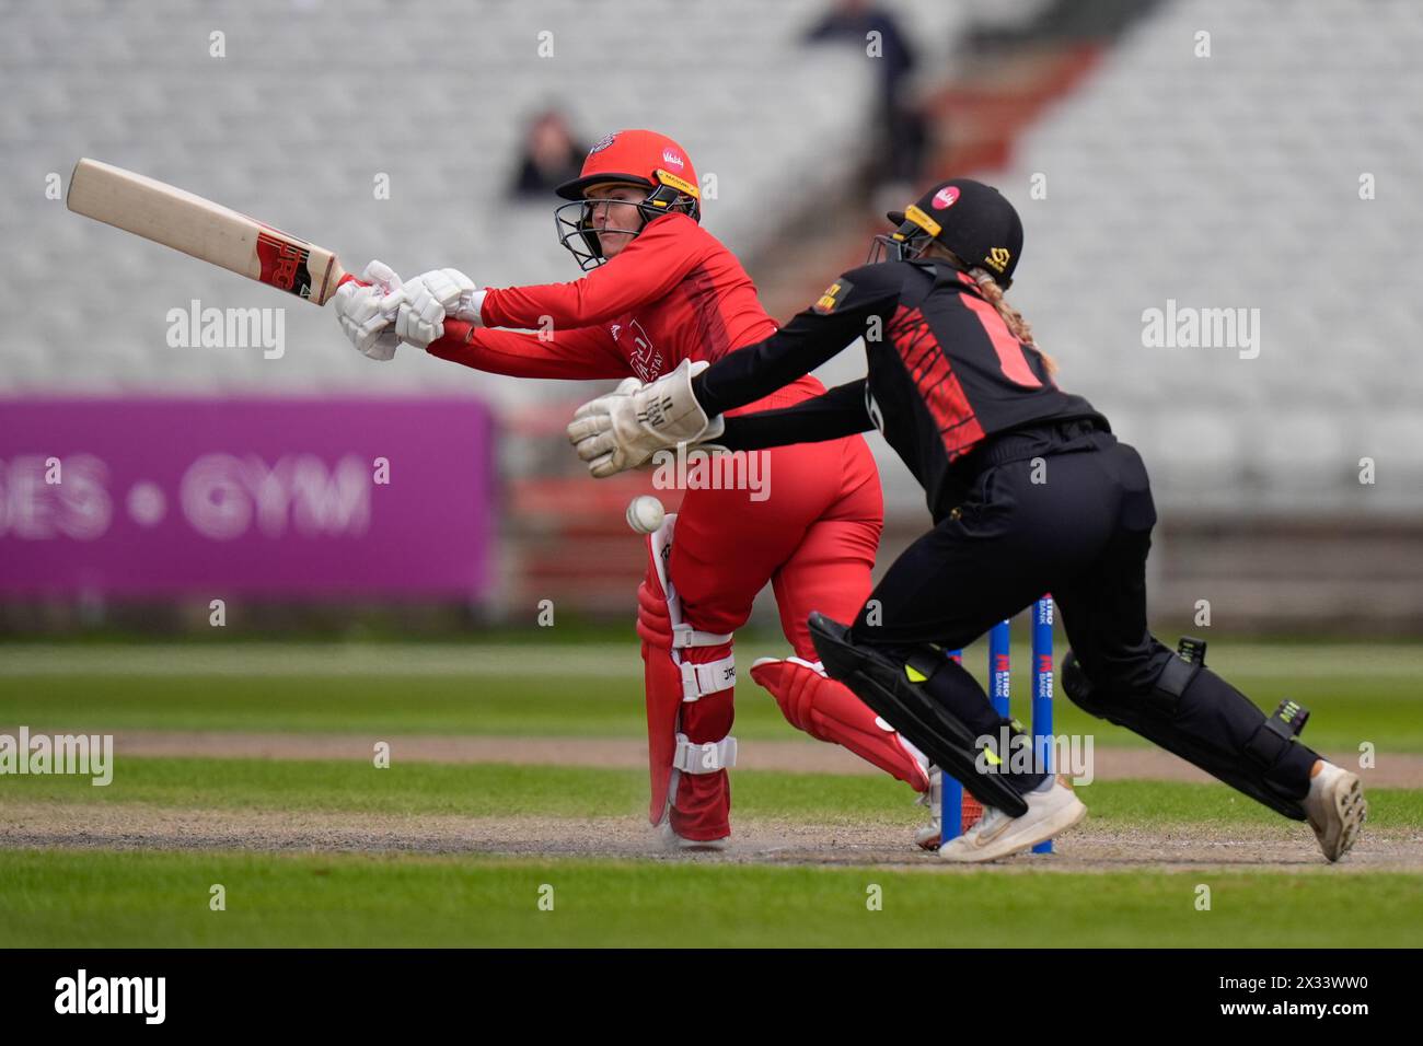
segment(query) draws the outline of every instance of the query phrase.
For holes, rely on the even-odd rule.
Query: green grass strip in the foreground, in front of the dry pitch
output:
[[[0,945],[1412,946],[1419,881],[425,857],[4,855]],[[209,887],[226,909],[209,911]],[[879,888],[879,909],[871,889]],[[551,891],[549,891],[551,888]],[[551,898],[552,909],[541,909]],[[1308,918],[1302,914],[1308,912]],[[1161,935],[1168,935],[1163,939]]]

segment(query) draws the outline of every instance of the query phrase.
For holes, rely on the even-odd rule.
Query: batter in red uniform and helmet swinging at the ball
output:
[[[558,194],[569,201],[556,211],[561,241],[586,276],[481,290],[455,270],[425,273],[400,290],[393,322],[400,340],[514,377],[652,381],[683,360],[714,361],[776,333],[740,262],[699,225],[697,176],[670,138],[609,135]],[[350,333],[350,323],[343,326]],[[787,407],[824,391],[804,376],[743,410]],[[793,726],[845,746],[916,791],[928,788],[924,757],[825,677],[805,626],[813,609],[852,618],[869,593],[882,525],[869,448],[852,435],[764,454],[766,491],[757,497],[768,497],[689,490],[680,512],[647,541],[638,632],[649,814],[680,845],[717,845],[730,834],[733,633],[767,582],[794,656],[757,662],[751,677]]]

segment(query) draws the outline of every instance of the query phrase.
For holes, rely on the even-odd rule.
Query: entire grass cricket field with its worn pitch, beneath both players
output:
[[[777,650],[739,657],[760,653]],[[1315,747],[1423,753],[1423,665],[1407,648],[1222,645],[1212,666],[1262,706],[1308,704]],[[635,650],[605,645],[0,648],[0,731],[635,740],[640,704]],[[797,737],[754,685],[737,704],[739,737]],[[1137,743],[1057,709],[1059,733]],[[1096,835],[1076,850],[1100,860],[1074,862],[1069,845],[961,870],[902,844],[922,811],[898,783],[746,766],[736,824],[771,842],[673,858],[642,841],[646,773],[569,751],[556,766],[376,768],[121,750],[108,787],[0,777],[0,946],[1390,946],[1413,944],[1423,916],[1423,787],[1370,788],[1368,838],[1383,850],[1352,867],[1325,865],[1308,830],[1224,786],[1101,780],[1081,791]],[[805,831],[821,848],[808,858]],[[623,850],[601,850],[605,834]],[[209,911],[212,884],[226,911]]]

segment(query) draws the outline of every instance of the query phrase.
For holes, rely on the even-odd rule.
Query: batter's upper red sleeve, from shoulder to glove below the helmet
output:
[[[548,316],[555,327],[608,323],[677,286],[697,263],[703,238],[686,215],[663,215],[622,253],[572,283],[491,287],[480,317],[487,327],[534,329]]]

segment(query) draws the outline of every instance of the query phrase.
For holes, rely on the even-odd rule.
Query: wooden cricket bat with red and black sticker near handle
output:
[[[70,176],[65,206],[203,262],[269,283],[316,305],[346,280],[326,248],[195,196],[154,178],[97,159],[81,159]]]

